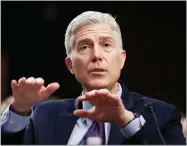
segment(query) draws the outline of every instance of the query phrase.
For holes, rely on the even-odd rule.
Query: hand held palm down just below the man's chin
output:
[[[121,98],[111,94],[107,89],[93,90],[79,97],[79,101],[86,100],[90,101],[94,108],[89,111],[83,109],[75,110],[75,116],[115,122],[120,127],[134,118],[133,113],[125,109]]]

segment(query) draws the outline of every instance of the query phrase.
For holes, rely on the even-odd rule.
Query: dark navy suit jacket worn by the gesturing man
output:
[[[126,109],[143,115],[145,125],[130,139],[126,139],[120,129],[111,123],[108,144],[162,144],[153,114],[145,107],[151,103],[158,119],[158,125],[167,144],[185,144],[182,134],[180,113],[171,104],[143,97],[129,92],[122,85],[122,100]],[[66,145],[78,117],[74,110],[81,108],[76,99],[43,102],[35,106],[34,114],[26,128],[17,133],[7,133],[3,125],[2,144],[50,144]]]

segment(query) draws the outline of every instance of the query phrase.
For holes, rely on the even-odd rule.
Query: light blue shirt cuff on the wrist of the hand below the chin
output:
[[[136,132],[138,132],[142,128],[145,122],[146,121],[143,118],[143,116],[140,115],[139,118],[134,119],[124,128],[122,128],[120,131],[127,139],[129,139],[131,136],[133,136]]]

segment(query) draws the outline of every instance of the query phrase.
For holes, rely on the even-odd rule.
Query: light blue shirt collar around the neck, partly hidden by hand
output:
[[[81,96],[83,95],[83,91],[81,93]],[[118,83],[118,93],[117,93],[117,96],[121,98],[121,95],[122,95],[122,87],[120,85],[120,83]],[[93,108],[93,105],[89,102],[89,101],[83,101],[82,102],[82,105],[83,105],[83,109],[84,110],[90,110],[91,108]],[[89,119],[87,118],[80,118],[80,122],[81,123],[89,123]]]

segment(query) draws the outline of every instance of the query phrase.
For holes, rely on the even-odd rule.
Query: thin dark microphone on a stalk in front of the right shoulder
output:
[[[163,138],[163,135],[160,132],[160,129],[159,129],[159,126],[158,126],[158,120],[157,120],[157,117],[156,117],[156,114],[155,114],[155,111],[154,111],[154,108],[153,108],[153,104],[152,103],[147,103],[147,104],[145,104],[145,108],[148,108],[151,111],[151,113],[153,115],[154,122],[156,124],[156,128],[157,128],[158,134],[160,136],[160,139],[161,139],[162,143],[164,145],[166,145],[166,142],[165,142],[165,140]]]

